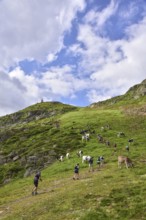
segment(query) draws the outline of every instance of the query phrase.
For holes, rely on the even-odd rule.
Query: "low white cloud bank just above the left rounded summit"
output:
[[[44,73],[26,75],[20,68],[9,74],[0,73],[0,115],[21,110],[29,105],[61,98],[74,99],[76,92],[89,83],[72,74],[74,67],[52,67]]]

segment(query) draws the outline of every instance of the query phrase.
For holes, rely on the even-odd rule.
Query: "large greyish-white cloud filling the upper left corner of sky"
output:
[[[64,31],[84,6],[84,0],[1,1],[1,66],[26,58],[44,61],[47,54],[55,54],[63,46]]]

